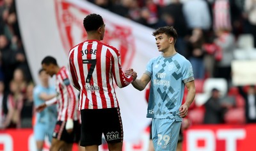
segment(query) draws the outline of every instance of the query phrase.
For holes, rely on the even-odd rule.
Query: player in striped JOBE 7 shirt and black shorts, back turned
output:
[[[125,77],[120,52],[100,42],[105,33],[100,15],[87,15],[83,24],[87,40],[70,49],[68,56],[73,84],[81,92],[80,145],[86,150],[98,150],[104,134],[109,150],[122,150],[122,119],[113,83],[123,88],[136,79],[137,74]]]

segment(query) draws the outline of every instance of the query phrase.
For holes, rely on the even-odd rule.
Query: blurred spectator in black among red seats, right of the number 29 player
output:
[[[213,88],[211,92],[211,97],[204,104],[204,123],[223,123],[225,111],[227,111],[231,106],[230,104],[224,104],[222,102],[223,98],[221,98],[220,91],[218,89]]]

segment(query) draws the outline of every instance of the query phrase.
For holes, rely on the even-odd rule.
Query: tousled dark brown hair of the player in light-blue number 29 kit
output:
[[[159,35],[161,33],[166,34],[167,36],[172,36],[174,39],[174,43],[177,40],[177,31],[173,28],[173,26],[164,26],[161,28],[157,28],[156,31],[153,32],[153,36]]]

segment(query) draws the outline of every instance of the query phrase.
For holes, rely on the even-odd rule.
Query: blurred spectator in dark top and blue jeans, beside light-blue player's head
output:
[[[204,79],[204,33],[202,29],[193,29],[188,40],[188,59],[193,67],[195,79]]]

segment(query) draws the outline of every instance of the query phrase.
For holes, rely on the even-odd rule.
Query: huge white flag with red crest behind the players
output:
[[[83,19],[89,13],[102,15],[106,24],[103,42],[120,50],[122,68],[134,68],[141,77],[150,58],[159,55],[153,29],[132,22],[84,0],[16,1],[22,41],[33,79],[45,56],[54,56],[60,66],[68,65],[70,48],[86,40]],[[54,78],[51,80],[54,83]],[[131,85],[116,88],[124,124],[124,141],[136,141],[150,123],[146,118],[145,91]],[[108,123],[106,123],[108,124]]]

